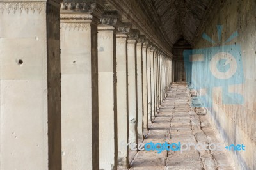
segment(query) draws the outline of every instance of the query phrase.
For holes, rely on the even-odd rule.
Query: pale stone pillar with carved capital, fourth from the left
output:
[[[116,35],[116,98],[118,166],[128,167],[128,110],[127,110],[127,33],[129,27],[118,27]]]

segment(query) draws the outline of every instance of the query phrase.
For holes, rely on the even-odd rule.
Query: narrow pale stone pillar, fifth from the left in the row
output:
[[[137,144],[137,98],[136,98],[136,42],[138,31],[132,29],[127,42],[128,65],[128,110],[129,110],[129,142]]]

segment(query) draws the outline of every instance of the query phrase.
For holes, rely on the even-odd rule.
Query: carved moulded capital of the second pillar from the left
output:
[[[60,7],[60,18],[67,20],[92,20],[104,12],[104,0],[64,0]]]

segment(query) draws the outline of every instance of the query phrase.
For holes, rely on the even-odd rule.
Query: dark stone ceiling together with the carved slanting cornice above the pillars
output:
[[[193,44],[213,4],[213,0],[106,0],[105,10],[118,10],[122,22],[132,20],[132,27],[141,28],[167,52],[179,40]]]

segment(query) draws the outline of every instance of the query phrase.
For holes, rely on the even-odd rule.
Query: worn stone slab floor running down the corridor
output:
[[[221,143],[207,117],[189,107],[191,95],[186,84],[173,84],[142,143]],[[211,147],[214,148],[214,147]],[[227,151],[136,151],[130,152],[135,169],[234,169]]]

